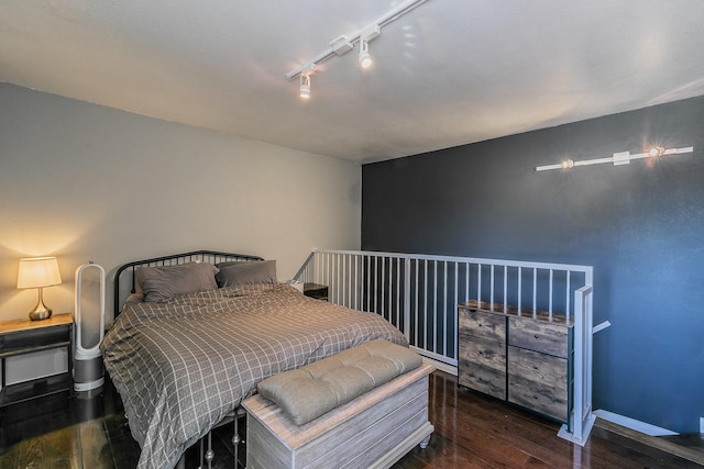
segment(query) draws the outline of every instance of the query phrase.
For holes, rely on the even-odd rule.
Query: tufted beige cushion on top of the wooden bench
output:
[[[302,425],[399,375],[418,368],[415,351],[376,339],[258,383],[296,425]]]

